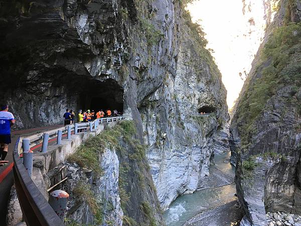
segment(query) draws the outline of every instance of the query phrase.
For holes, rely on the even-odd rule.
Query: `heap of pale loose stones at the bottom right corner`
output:
[[[266,220],[268,226],[301,226],[301,216],[283,212],[267,212]]]

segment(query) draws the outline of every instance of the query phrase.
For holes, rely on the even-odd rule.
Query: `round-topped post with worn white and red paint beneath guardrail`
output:
[[[51,205],[56,214],[64,220],[67,212],[67,203],[69,194],[63,190],[55,190],[50,192],[48,203]]]

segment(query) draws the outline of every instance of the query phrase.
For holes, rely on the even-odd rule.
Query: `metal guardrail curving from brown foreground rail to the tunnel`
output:
[[[92,129],[96,128],[99,123],[110,123],[122,120],[123,117],[110,117],[101,120],[95,120],[88,123],[77,124],[77,130],[80,129]],[[29,173],[23,165],[23,161],[20,158],[22,151],[22,140],[29,139],[30,147],[34,147],[43,142],[43,133],[49,135],[48,139],[52,139],[58,136],[58,131],[68,134],[68,127],[74,130],[75,125],[68,125],[61,128],[52,130],[39,131],[37,133],[21,136],[18,138],[14,153],[14,181],[17,190],[19,203],[22,209],[23,218],[28,226],[61,226],[64,225],[63,221],[56,214],[54,209],[47,202],[42,195],[36,184],[33,182]],[[48,143],[48,141],[47,141]]]

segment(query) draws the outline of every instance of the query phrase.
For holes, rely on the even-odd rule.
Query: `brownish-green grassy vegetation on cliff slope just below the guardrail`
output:
[[[147,199],[142,199],[138,206],[138,209],[144,215],[144,219],[140,219],[140,222],[134,220],[129,216],[129,209],[132,209],[131,198],[139,200],[139,198],[132,194],[131,189],[133,185],[129,181],[137,181],[139,191],[137,193],[149,192],[149,187],[153,191],[156,188],[153,185],[153,181],[148,178],[145,170],[149,170],[147,162],[145,160],[144,145],[141,145],[140,141],[134,139],[136,134],[136,128],[132,121],[123,121],[113,128],[105,129],[100,135],[88,139],[77,151],[69,158],[69,161],[76,162],[83,168],[90,168],[93,170],[96,176],[101,175],[100,159],[101,154],[105,149],[116,150],[119,157],[119,197],[120,204],[123,210],[123,224],[124,225],[157,225],[154,213],[154,206],[149,204]],[[138,167],[135,168],[134,165]],[[132,177],[130,179],[130,177]],[[85,201],[89,205],[94,214],[95,221],[101,222],[103,213],[101,212],[101,200],[97,200],[96,196],[91,191],[89,185],[78,182],[73,192],[84,197]],[[157,198],[157,197],[156,197]],[[160,212],[160,206],[156,205]],[[136,210],[137,211],[137,210]],[[144,221],[144,222],[143,222]]]

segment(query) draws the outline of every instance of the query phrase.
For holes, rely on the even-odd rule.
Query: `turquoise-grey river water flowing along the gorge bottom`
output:
[[[235,168],[227,161],[230,153],[215,155],[215,165],[212,167],[229,175],[235,175]],[[216,188],[196,191],[193,194],[178,197],[164,212],[164,218],[168,226],[181,226],[187,220],[200,213],[202,210],[213,208],[235,200],[235,183]]]

